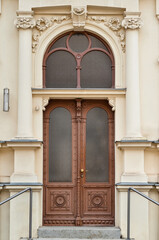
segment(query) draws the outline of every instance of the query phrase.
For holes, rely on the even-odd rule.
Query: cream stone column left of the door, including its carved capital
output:
[[[19,30],[19,76],[18,76],[18,138],[32,136],[32,28],[35,26],[33,12],[17,11],[16,27]]]

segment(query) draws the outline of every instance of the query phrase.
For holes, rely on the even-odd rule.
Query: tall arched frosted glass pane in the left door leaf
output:
[[[70,112],[62,107],[50,113],[49,181],[72,181],[72,123]]]

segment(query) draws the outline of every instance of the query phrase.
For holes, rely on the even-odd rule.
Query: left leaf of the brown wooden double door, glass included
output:
[[[44,113],[44,225],[75,225],[76,134],[75,102],[51,101]]]

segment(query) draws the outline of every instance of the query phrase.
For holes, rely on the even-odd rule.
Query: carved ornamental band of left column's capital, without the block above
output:
[[[33,17],[17,17],[14,23],[18,29],[26,30],[35,27],[35,19]]]

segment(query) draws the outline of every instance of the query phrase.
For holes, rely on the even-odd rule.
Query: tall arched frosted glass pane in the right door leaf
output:
[[[108,115],[93,108],[86,123],[86,182],[109,181]]]

